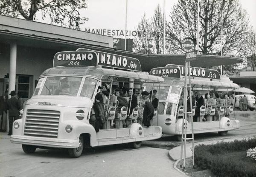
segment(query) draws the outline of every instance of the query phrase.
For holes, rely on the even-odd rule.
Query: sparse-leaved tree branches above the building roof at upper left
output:
[[[88,20],[80,17],[80,9],[86,9],[85,0],[1,0],[0,14],[23,17],[26,20],[35,20],[36,14],[41,12],[44,19],[49,15],[51,22],[61,26],[73,22],[82,24]],[[65,21],[68,23],[65,23]]]

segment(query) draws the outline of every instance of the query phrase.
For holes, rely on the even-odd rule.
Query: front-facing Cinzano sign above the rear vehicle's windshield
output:
[[[177,67],[159,67],[153,68],[150,71],[150,75],[168,77],[168,78],[180,78],[180,69]]]

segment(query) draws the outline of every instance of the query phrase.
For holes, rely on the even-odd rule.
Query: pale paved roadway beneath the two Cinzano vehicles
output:
[[[255,111],[236,111],[236,119],[241,121],[238,130],[230,131],[226,137],[219,137],[218,133],[197,134],[195,144],[256,136]],[[171,135],[145,141],[139,149],[131,149],[127,144],[87,148],[77,159],[70,159],[65,150],[37,149],[34,154],[24,154],[21,145],[10,143],[9,138],[0,132],[0,177],[186,176],[174,168],[175,161],[169,157],[170,154],[175,160],[180,158],[180,142]]]

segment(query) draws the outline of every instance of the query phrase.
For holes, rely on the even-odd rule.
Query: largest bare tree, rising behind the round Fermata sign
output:
[[[244,57],[249,20],[238,0],[200,0],[199,52]],[[179,0],[170,13],[166,39],[168,51],[183,53],[180,42],[185,37],[197,40],[198,0]],[[223,45],[221,45],[221,21]],[[172,48],[171,48],[172,47]],[[227,66],[227,70],[232,69]]]

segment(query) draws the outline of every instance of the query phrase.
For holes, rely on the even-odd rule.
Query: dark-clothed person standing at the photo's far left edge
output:
[[[6,122],[7,122],[7,99],[8,91],[4,92],[4,95],[0,97],[0,131],[6,132]]]

